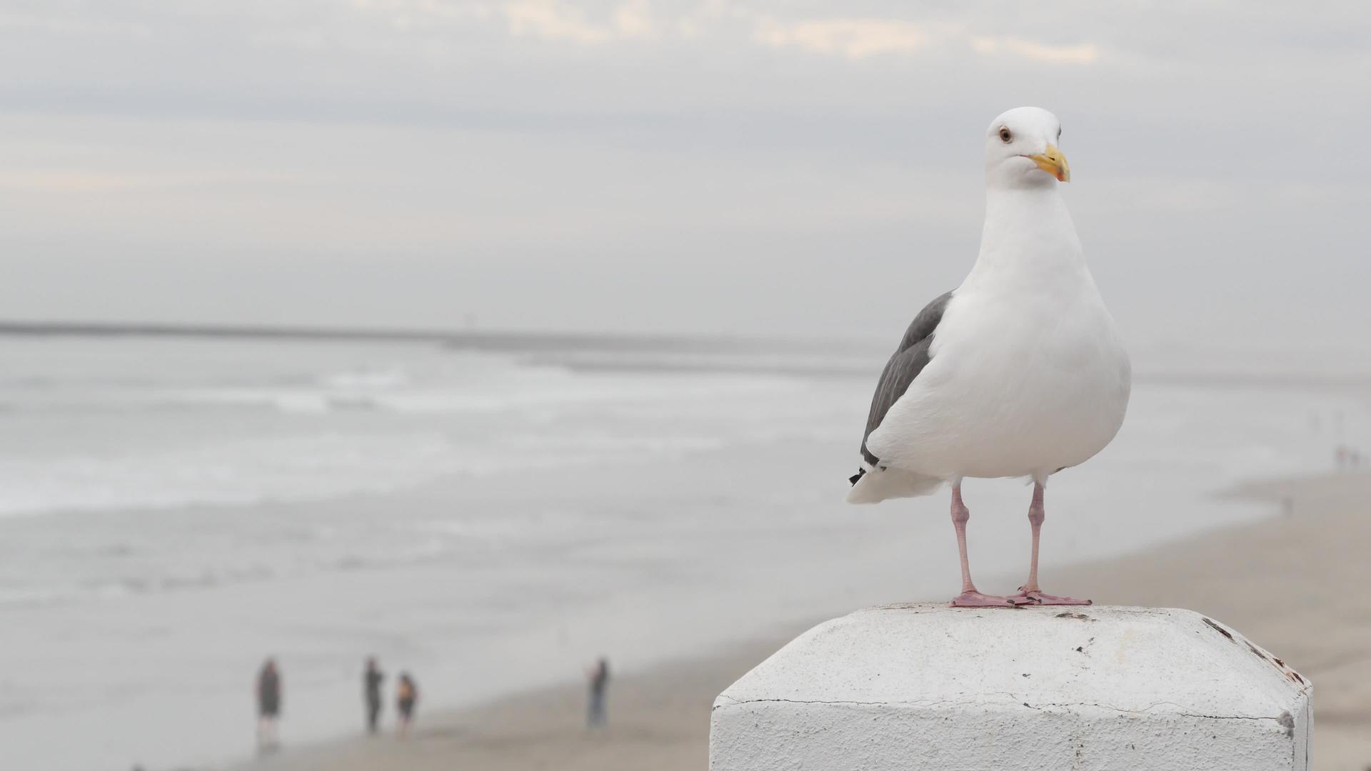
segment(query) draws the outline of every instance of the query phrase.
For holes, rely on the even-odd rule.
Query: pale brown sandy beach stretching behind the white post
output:
[[[1371,595],[1360,587],[1371,578],[1364,554],[1371,475],[1249,484],[1230,495],[1270,502],[1275,519],[1049,569],[1045,584],[1089,590],[1100,604],[1190,608],[1242,630],[1313,679],[1315,768],[1364,771],[1371,767]],[[610,724],[594,734],[583,728],[584,693],[576,683],[422,715],[404,741],[359,737],[288,750],[240,771],[699,770],[714,696],[790,637],[617,678]]]

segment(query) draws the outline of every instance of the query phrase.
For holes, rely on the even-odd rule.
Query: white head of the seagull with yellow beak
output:
[[[1061,121],[1042,107],[1015,107],[986,129],[986,181],[998,188],[1031,188],[1071,181],[1061,144]]]

